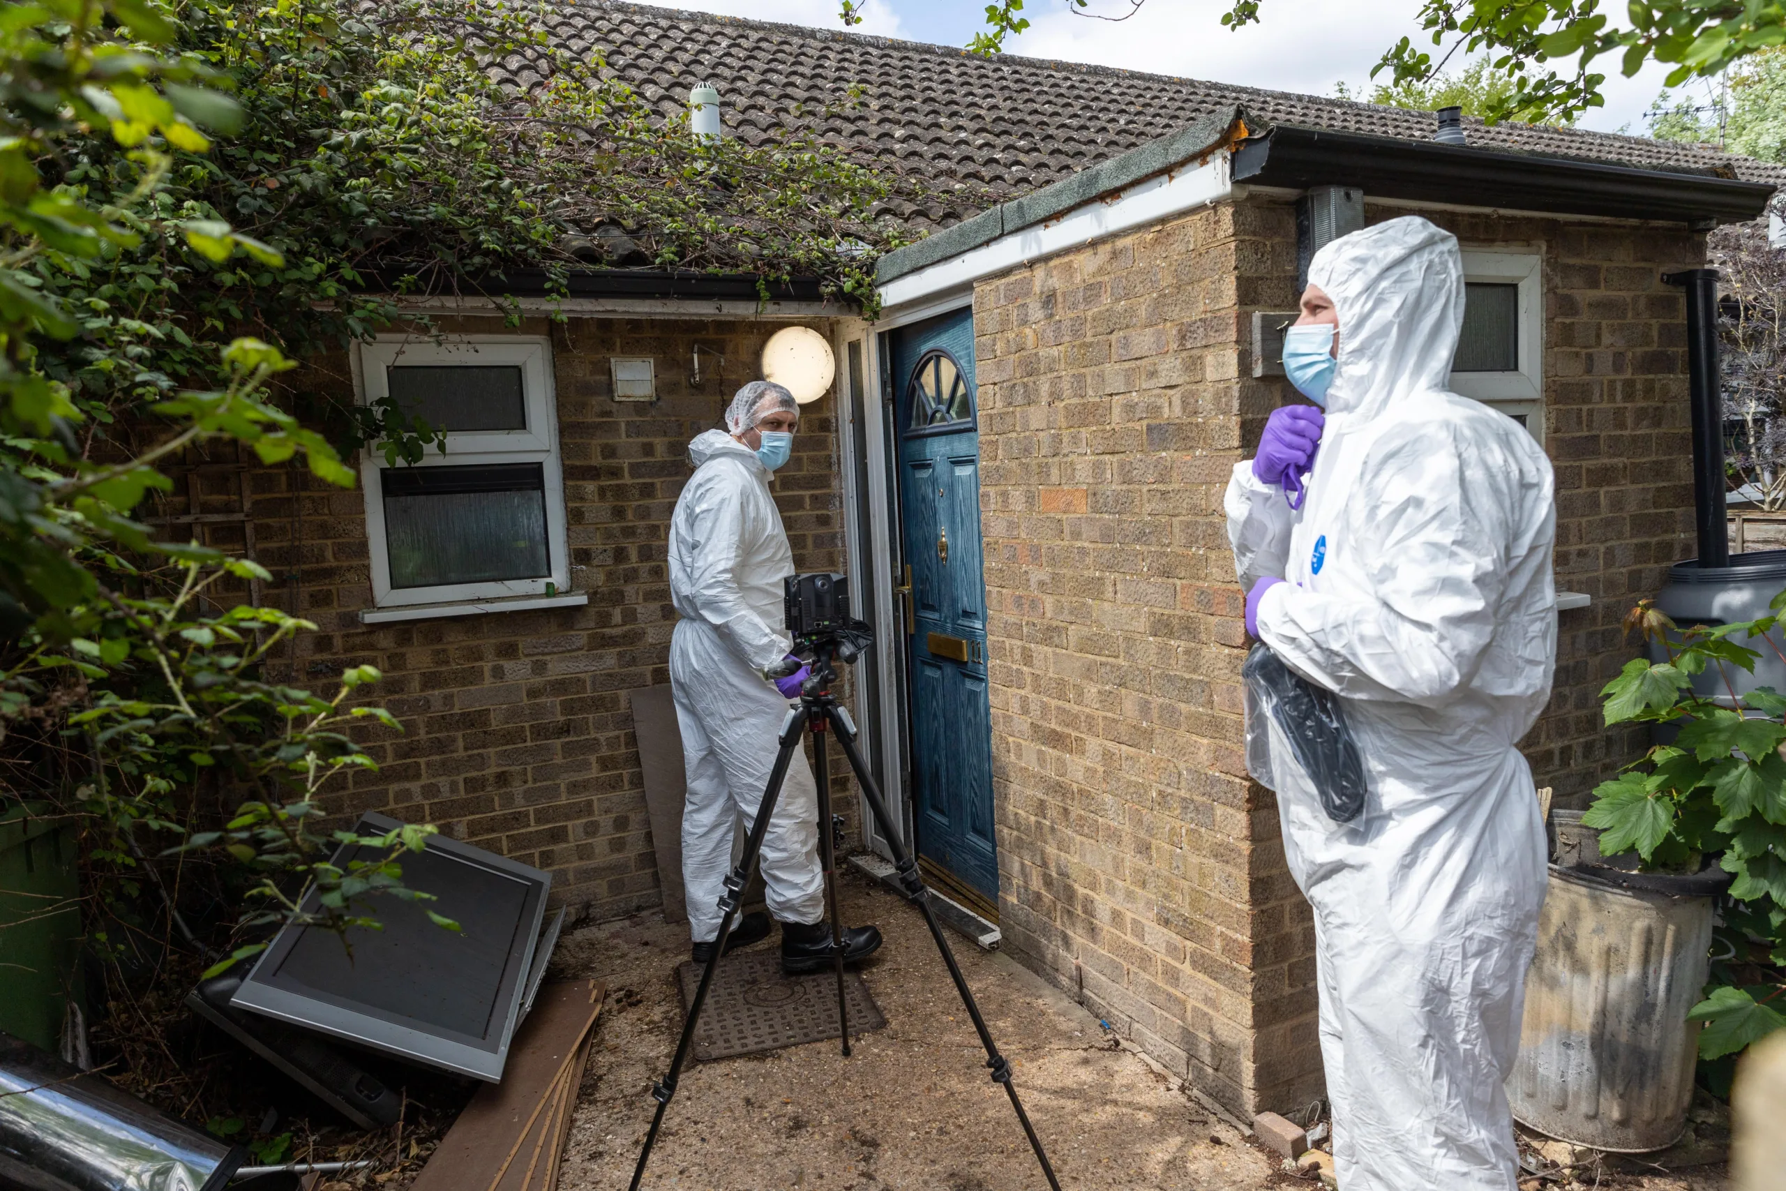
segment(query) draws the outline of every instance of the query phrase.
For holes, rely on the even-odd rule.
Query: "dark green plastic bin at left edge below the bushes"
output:
[[[80,980],[79,827],[41,802],[0,809],[0,1032],[61,1050]]]

